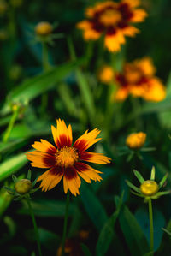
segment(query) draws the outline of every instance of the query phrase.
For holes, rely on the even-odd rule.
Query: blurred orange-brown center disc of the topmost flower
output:
[[[121,21],[121,13],[116,9],[107,9],[100,15],[99,19],[104,26],[115,25]]]

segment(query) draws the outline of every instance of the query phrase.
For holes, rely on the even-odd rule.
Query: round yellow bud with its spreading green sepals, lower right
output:
[[[140,182],[140,187],[134,186],[131,182],[127,181],[127,185],[132,188],[132,193],[138,195],[139,197],[143,197],[145,202],[149,199],[158,199],[160,196],[171,193],[170,190],[158,192],[160,188],[164,185],[168,178],[168,174],[163,176],[161,182],[158,184],[155,181],[155,168],[153,167],[150,173],[150,180],[144,181],[143,176],[137,170],[133,170],[134,175],[138,178]]]

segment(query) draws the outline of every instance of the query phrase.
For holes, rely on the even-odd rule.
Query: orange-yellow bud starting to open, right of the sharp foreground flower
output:
[[[144,146],[144,142],[146,140],[146,134],[140,133],[133,133],[127,136],[126,144],[131,149],[139,149],[140,147]]]

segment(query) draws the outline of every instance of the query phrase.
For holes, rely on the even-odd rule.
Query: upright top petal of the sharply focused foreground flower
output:
[[[53,125],[51,126],[51,131],[58,149],[63,146],[71,146],[73,142],[71,125],[69,124],[67,128],[65,122],[61,119],[56,120],[56,125],[56,128]]]

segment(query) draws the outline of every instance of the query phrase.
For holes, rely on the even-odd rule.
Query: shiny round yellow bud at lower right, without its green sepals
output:
[[[158,184],[155,181],[144,181],[141,186],[140,190],[145,196],[155,195],[158,192]]]

